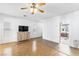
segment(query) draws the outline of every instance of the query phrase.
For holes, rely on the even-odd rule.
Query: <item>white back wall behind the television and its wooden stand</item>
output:
[[[29,26],[30,38],[36,38],[41,36],[41,33],[39,33],[40,30],[38,23],[36,22],[10,16],[3,16],[3,19],[4,19],[4,21],[2,22],[3,27],[4,28],[9,27],[10,29],[9,30],[3,29],[4,35],[3,39],[1,39],[2,43],[17,41],[17,32],[19,25]],[[5,23],[9,23],[10,25],[6,26]]]

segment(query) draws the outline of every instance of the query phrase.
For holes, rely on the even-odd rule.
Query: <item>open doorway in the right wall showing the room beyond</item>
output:
[[[69,24],[60,23],[60,43],[69,45]]]

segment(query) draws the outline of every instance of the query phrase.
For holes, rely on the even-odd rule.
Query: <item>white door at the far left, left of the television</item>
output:
[[[4,34],[4,37],[3,37],[3,43],[8,43],[11,41],[11,31],[10,31],[10,23],[9,22],[4,22],[3,23],[3,34]]]

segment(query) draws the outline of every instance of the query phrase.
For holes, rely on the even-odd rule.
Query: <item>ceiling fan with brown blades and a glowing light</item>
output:
[[[35,14],[36,10],[41,12],[41,13],[44,13],[45,11],[41,10],[39,7],[44,6],[45,4],[46,3],[31,3],[31,6],[29,6],[29,7],[30,7],[32,14]],[[24,10],[24,9],[28,9],[28,8],[27,7],[21,8],[21,10]]]

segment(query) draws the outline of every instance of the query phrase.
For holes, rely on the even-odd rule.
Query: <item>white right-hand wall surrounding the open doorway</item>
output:
[[[79,11],[57,16],[45,21],[43,26],[43,39],[59,42],[59,24],[69,24],[70,46],[74,47],[73,40],[79,40]]]

